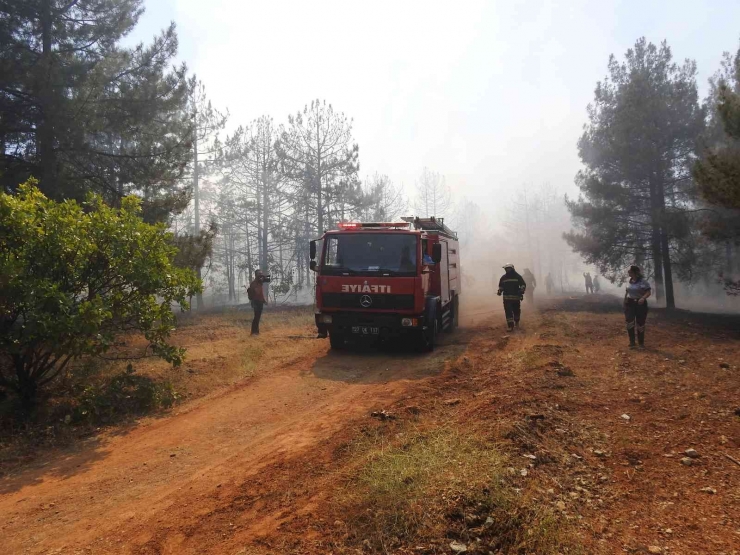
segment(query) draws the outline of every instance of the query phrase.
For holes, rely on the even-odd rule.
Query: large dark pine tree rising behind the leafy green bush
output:
[[[52,198],[136,193],[162,219],[189,201],[189,87],[174,24],[123,48],[142,0],[0,2],[0,179]]]

